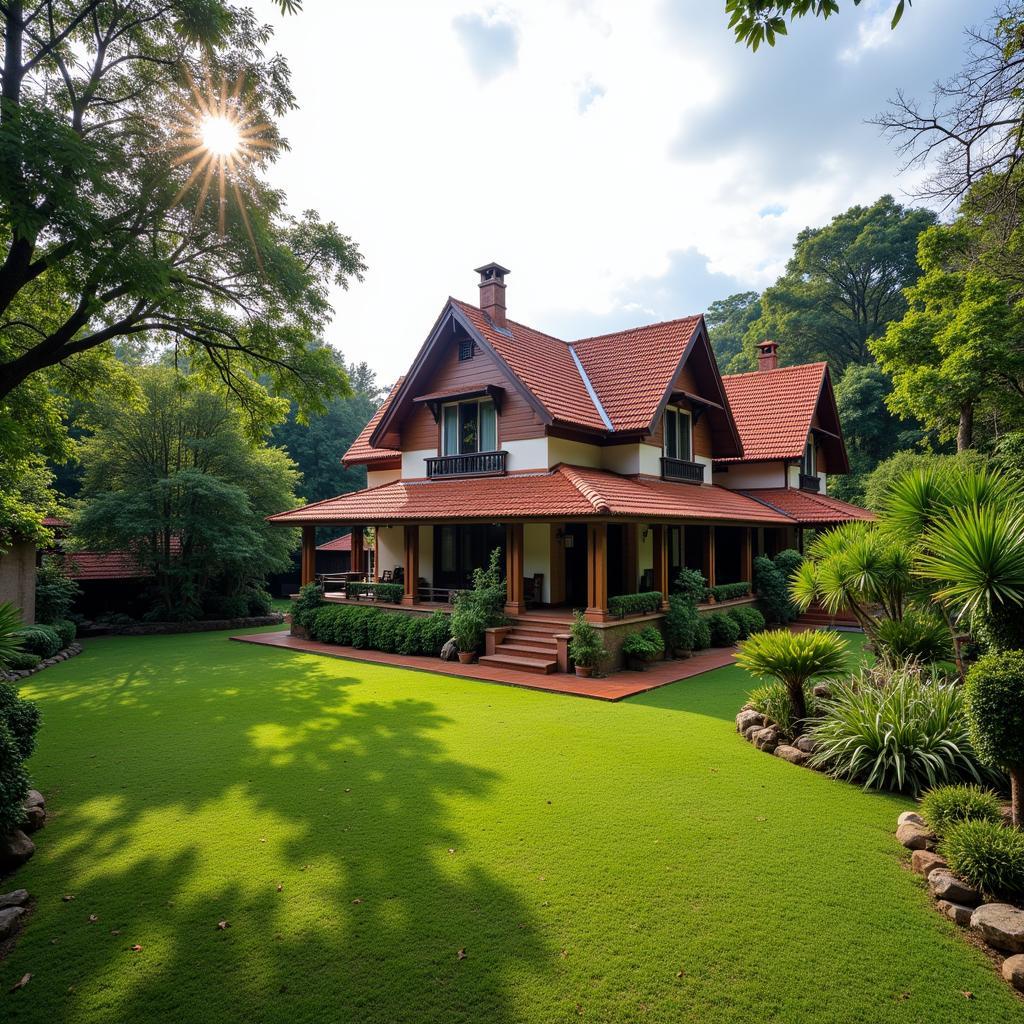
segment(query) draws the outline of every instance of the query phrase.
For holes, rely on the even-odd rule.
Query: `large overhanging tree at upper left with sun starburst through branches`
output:
[[[272,395],[305,411],[343,390],[312,342],[362,259],[261,176],[295,105],[269,29],[226,0],[0,0],[0,399],[140,337],[254,423]]]

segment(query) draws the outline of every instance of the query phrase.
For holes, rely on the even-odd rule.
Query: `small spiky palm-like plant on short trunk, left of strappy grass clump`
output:
[[[838,676],[846,670],[846,641],[830,631],[755,633],[739,645],[736,663],[755,676],[784,684],[793,709],[793,729],[800,735],[807,718],[804,687],[812,679]]]

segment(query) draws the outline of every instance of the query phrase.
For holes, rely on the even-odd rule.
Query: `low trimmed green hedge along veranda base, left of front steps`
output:
[[[313,640],[386,654],[437,656],[452,636],[452,616],[410,615],[384,608],[360,608],[352,604],[326,604],[307,620]]]

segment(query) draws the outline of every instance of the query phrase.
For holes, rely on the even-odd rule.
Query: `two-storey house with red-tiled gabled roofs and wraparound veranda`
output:
[[[271,516],[375,527],[375,565],[410,608],[446,601],[501,548],[507,611],[527,599],[609,620],[616,594],[660,591],[681,566],[750,581],[752,560],[869,514],[828,497],[848,471],[824,364],[723,377],[703,317],[563,341],[507,316],[508,270],[479,267],[479,304],[450,298],[344,454],[368,486]],[[351,567],[365,568],[362,530]]]

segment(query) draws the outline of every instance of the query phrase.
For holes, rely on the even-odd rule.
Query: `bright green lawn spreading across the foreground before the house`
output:
[[[907,802],[744,743],[744,687],[87,641],[24,687],[52,819],[0,1019],[1020,1022],[905,869]]]

